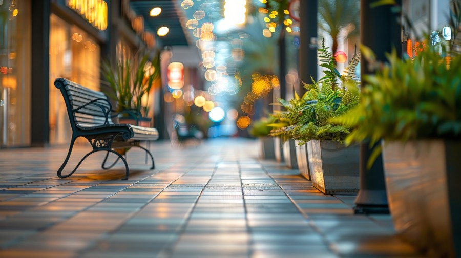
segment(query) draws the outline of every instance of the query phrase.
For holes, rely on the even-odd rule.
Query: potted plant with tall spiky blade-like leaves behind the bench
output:
[[[133,58],[121,57],[115,66],[106,61],[102,73],[110,85],[105,93],[116,102],[119,123],[150,127],[149,104],[143,102],[149,102],[149,93],[160,78],[160,51],[153,58],[143,52]]]

